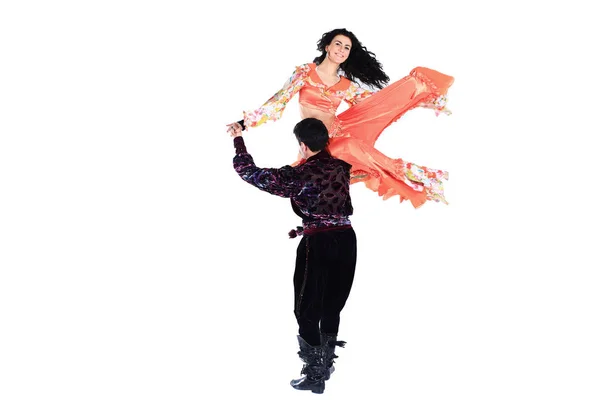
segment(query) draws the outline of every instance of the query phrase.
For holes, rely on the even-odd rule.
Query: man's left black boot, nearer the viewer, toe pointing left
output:
[[[290,385],[298,390],[323,393],[325,391],[324,347],[322,345],[311,346],[300,335],[298,335],[298,344],[300,345],[298,355],[305,363],[302,367],[302,374],[305,375],[300,379],[292,380]]]

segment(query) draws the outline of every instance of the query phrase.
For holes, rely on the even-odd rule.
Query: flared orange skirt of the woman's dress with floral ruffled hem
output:
[[[360,103],[340,113],[330,127],[329,152],[352,165],[351,183],[364,182],[384,200],[399,196],[418,208],[427,201],[448,204],[442,180],[448,172],[392,159],[374,148],[383,130],[407,111],[432,108],[436,114],[450,112],[445,95],[454,78],[417,67]]]

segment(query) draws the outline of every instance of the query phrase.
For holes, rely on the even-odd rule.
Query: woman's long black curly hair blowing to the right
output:
[[[339,28],[324,33],[317,42],[317,50],[321,52],[321,55],[316,57],[313,62],[317,65],[323,62],[325,57],[327,57],[325,47],[329,46],[333,38],[337,35],[346,36],[352,41],[352,48],[350,49],[348,58],[340,64],[340,69],[344,71],[346,78],[355,82],[358,79],[366,85],[383,89],[390,81],[390,77],[383,72],[383,67],[375,58],[375,54],[367,50],[356,36],[347,29]]]

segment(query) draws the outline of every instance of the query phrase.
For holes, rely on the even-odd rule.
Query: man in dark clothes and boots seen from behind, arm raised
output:
[[[316,118],[294,127],[303,162],[295,167],[258,168],[247,152],[242,129],[228,129],[234,137],[233,166],[238,175],[257,188],[291,199],[302,226],[290,231],[302,235],[294,272],[294,314],[304,367],[300,379],[290,382],[299,390],[323,393],[333,372],[340,313],[350,294],[356,266],[356,235],[350,223],[350,164],[334,158],[326,147],[327,128]]]

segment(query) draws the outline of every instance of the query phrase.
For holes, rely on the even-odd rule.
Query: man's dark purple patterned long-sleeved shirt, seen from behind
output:
[[[290,198],[305,233],[350,226],[350,164],[323,150],[295,167],[259,168],[241,136],[233,144],[233,167],[238,175],[260,190]]]

